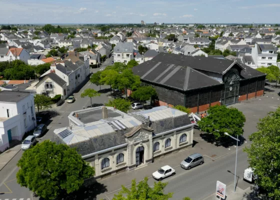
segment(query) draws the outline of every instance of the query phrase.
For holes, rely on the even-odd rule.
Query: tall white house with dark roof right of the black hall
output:
[[[277,65],[277,52],[272,44],[258,44],[252,48],[252,58],[255,68],[258,66]]]

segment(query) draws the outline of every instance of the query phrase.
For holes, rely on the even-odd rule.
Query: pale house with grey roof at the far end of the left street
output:
[[[127,63],[134,58],[133,42],[119,42],[113,48],[114,62]]]

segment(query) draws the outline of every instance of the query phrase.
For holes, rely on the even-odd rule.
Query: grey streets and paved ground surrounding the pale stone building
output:
[[[101,67],[92,69],[93,71],[100,70],[105,66],[110,65],[110,58]],[[82,109],[83,106],[90,106],[90,99],[88,97],[81,98],[80,93],[85,88],[94,88],[99,90],[99,86],[86,82],[81,89],[74,93],[76,100],[73,103],[63,103],[61,106],[53,109],[53,115],[48,123],[48,131],[38,141],[50,139],[53,130],[60,127],[69,125],[68,114],[73,110]],[[108,101],[109,86],[102,85],[101,95],[92,98],[93,104],[104,104]],[[276,93],[276,92],[275,92]],[[248,136],[256,130],[256,122],[258,118],[264,117],[268,111],[276,109],[279,100],[275,98],[275,93],[266,93],[265,96],[251,99],[242,103],[234,104],[233,107],[242,110],[246,116],[243,137],[244,143],[238,145],[237,156],[237,187],[245,189],[251,184],[242,180],[242,174],[245,168],[248,167],[247,155],[242,152],[242,148],[249,144]],[[266,97],[267,96],[267,97]],[[274,96],[274,98],[272,98]],[[112,199],[113,194],[117,193],[121,188],[121,184],[129,188],[131,179],[136,178],[136,181],[143,179],[145,176],[149,177],[149,185],[153,185],[155,181],[151,178],[151,173],[157,168],[169,164],[174,167],[176,174],[172,177],[163,179],[163,182],[168,182],[165,192],[174,192],[172,199],[182,199],[184,196],[189,196],[192,199],[203,199],[214,192],[216,180],[220,180],[226,185],[233,184],[234,180],[234,166],[235,166],[235,146],[234,144],[229,147],[215,146],[214,143],[205,140],[200,134],[199,130],[195,130],[193,135],[195,143],[193,147],[164,157],[148,166],[139,168],[133,171],[126,171],[115,176],[98,181],[99,184],[104,186],[104,191],[100,190],[94,194],[93,197],[88,199]],[[230,139],[230,138],[228,138]],[[184,170],[179,165],[180,161],[187,155],[199,152],[203,155],[205,163],[196,166],[190,170]],[[23,151],[19,152],[0,170],[0,200],[35,200],[38,197],[32,196],[32,193],[25,187],[20,187],[16,183],[16,166],[17,161],[20,159]],[[94,185],[93,185],[94,186]]]

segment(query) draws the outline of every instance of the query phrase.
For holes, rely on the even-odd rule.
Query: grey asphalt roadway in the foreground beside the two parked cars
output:
[[[237,154],[236,181],[238,180],[237,186],[241,189],[245,189],[251,185],[242,180],[243,171],[247,166],[247,155],[242,152],[242,149],[240,148]],[[185,170],[180,166],[176,166],[174,168],[176,174],[162,180],[163,182],[168,182],[164,192],[174,192],[173,197],[171,198],[174,200],[182,199],[185,196],[195,200],[203,199],[215,192],[217,180],[226,185],[233,184],[234,167],[235,153],[227,154],[215,161],[212,161],[208,157],[204,157],[204,163],[202,165],[195,166],[190,170]],[[156,180],[149,177],[148,184],[153,186],[154,181]],[[112,199],[113,195],[117,193],[118,191],[115,191],[106,194],[106,196],[108,199]]]

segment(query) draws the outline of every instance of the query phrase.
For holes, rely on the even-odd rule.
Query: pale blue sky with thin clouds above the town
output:
[[[0,0],[0,23],[280,23],[280,0]]]

